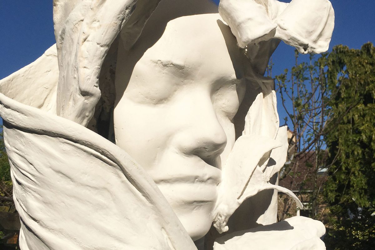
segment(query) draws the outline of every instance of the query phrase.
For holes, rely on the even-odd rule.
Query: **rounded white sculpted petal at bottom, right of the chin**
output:
[[[272,225],[225,235],[216,240],[214,250],[325,250],[320,240],[325,232],[323,223],[296,216]]]

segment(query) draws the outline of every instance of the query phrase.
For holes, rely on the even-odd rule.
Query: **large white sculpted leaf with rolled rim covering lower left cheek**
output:
[[[196,250],[147,173],[85,127],[0,94],[24,250]]]

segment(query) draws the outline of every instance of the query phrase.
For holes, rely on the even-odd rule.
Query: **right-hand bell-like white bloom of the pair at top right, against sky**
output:
[[[335,12],[328,0],[292,0],[275,19],[275,37],[294,46],[300,53],[321,53],[328,50]]]

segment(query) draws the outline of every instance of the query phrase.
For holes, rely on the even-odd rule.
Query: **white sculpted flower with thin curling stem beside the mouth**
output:
[[[273,114],[273,115],[270,115]],[[222,168],[222,180],[214,209],[214,226],[228,231],[229,217],[248,198],[262,190],[275,189],[302,203],[290,190],[270,183],[287,159],[287,126],[279,128],[276,93],[258,94],[245,118],[245,129]],[[255,118],[255,119],[254,119]]]

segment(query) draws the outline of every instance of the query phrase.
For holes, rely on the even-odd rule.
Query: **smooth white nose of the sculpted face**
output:
[[[184,125],[178,136],[178,149],[187,155],[196,155],[210,165],[216,165],[226,145],[227,137],[220,124],[209,94],[196,93],[185,106]]]

